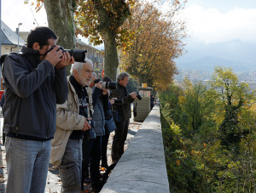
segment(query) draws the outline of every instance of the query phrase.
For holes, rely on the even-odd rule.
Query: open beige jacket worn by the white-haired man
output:
[[[51,141],[51,152],[49,162],[61,165],[67,141],[73,130],[84,128],[85,117],[79,115],[79,97],[69,77],[67,77],[68,94],[67,101],[63,105],[57,105],[56,132]]]

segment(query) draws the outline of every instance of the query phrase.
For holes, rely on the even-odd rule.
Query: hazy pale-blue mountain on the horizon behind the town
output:
[[[239,40],[227,43],[189,43],[188,53],[176,60],[177,68],[213,71],[215,65],[234,71],[256,71],[256,43]]]

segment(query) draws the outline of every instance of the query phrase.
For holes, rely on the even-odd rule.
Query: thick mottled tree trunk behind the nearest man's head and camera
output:
[[[73,12],[75,0],[44,0],[49,28],[59,37],[58,45],[65,49],[73,49],[76,44]],[[70,66],[67,67],[69,74]]]

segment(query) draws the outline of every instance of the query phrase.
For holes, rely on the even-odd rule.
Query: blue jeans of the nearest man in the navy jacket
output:
[[[5,142],[7,193],[44,193],[49,168],[50,140],[7,137]]]

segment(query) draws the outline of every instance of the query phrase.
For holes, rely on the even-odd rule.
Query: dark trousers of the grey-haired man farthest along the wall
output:
[[[130,119],[121,120],[121,122],[115,122],[116,129],[113,136],[113,145],[112,145],[112,161],[118,162],[120,157],[124,153],[125,140],[127,138],[128,128],[129,128]]]

